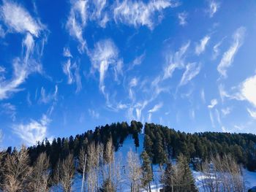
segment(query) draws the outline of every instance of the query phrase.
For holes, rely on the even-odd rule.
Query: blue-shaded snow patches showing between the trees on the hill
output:
[[[144,140],[144,134],[139,135],[139,142],[140,147],[137,148],[138,155],[140,155],[143,152],[143,140]],[[129,135],[127,139],[124,140],[124,144],[119,147],[118,151],[116,152],[116,157],[121,155],[121,166],[127,166],[127,153],[129,150],[136,151],[134,139],[132,139],[132,135]],[[151,183],[151,191],[152,192],[159,192],[159,189],[161,188],[161,183],[159,183],[161,172],[159,171],[159,166],[154,165],[153,166],[153,172],[154,172],[154,181]],[[193,176],[195,177],[195,182],[198,188],[200,188],[200,172],[196,172],[195,170],[192,170]],[[249,188],[252,188],[253,186],[256,186],[256,172],[249,172],[248,170],[244,169],[244,175],[245,180],[247,183],[247,186]],[[129,190],[129,183],[127,182],[127,176],[124,174],[124,171],[122,172],[122,177],[124,178],[122,183],[122,189],[123,191],[130,191]],[[74,184],[72,185],[72,191],[80,191],[81,189],[81,183],[82,183],[82,177],[80,174],[75,175]],[[52,188],[53,192],[58,191],[57,188]],[[60,190],[59,190],[60,191]],[[200,190],[201,191],[201,190]]]

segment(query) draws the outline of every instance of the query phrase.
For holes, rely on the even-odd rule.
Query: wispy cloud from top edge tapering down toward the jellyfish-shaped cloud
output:
[[[83,39],[83,28],[85,28],[88,19],[87,7],[88,1],[71,1],[71,9],[66,23],[69,35],[77,39],[80,43],[80,52],[83,52],[84,48],[87,48],[86,40]]]

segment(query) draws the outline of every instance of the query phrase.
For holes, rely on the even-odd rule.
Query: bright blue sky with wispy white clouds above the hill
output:
[[[130,120],[256,134],[255,10],[255,0],[0,0],[1,146]]]

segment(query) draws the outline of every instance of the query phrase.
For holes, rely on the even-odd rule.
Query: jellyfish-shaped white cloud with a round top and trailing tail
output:
[[[119,63],[121,60],[118,59],[118,49],[112,40],[105,39],[94,45],[90,58],[92,69],[97,69],[99,72],[99,89],[105,93],[104,80],[109,66],[113,65],[115,76],[122,72]]]

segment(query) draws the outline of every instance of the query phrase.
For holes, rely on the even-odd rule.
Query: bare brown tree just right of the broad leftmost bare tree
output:
[[[46,153],[41,153],[37,158],[30,177],[30,190],[35,192],[45,192],[48,189],[48,180],[50,178],[49,158]]]

